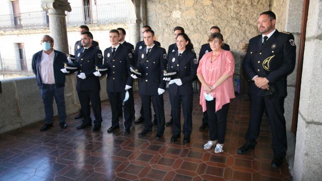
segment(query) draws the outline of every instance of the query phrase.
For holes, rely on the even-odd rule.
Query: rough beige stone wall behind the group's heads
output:
[[[201,45],[207,42],[211,26],[221,29],[225,43],[235,58],[235,77],[239,78],[242,50],[249,39],[258,35],[257,18],[269,9],[269,0],[259,1],[146,1],[147,24],[155,31],[156,39],[168,50],[175,42],[173,28],[181,26],[190,37],[197,56]]]

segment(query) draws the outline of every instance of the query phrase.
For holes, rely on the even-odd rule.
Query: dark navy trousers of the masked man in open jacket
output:
[[[40,88],[42,102],[45,108],[45,124],[51,124],[54,116],[54,98],[57,105],[59,123],[65,122],[66,108],[64,99],[64,87],[56,87],[55,84],[43,84]]]

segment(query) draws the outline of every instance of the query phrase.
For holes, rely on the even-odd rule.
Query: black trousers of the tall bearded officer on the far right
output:
[[[251,116],[246,140],[256,140],[259,136],[263,112],[266,107],[272,132],[272,149],[275,156],[284,157],[287,151],[286,126],[284,118],[285,97],[268,98],[250,95]]]

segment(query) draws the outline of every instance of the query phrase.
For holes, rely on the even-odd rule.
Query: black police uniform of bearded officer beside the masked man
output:
[[[84,49],[84,48],[83,48]],[[86,78],[78,78],[76,83],[76,91],[78,99],[81,103],[83,113],[83,124],[92,124],[90,101],[95,116],[94,124],[100,126],[102,122],[101,99],[100,99],[100,80],[93,73],[96,71],[94,65],[102,65],[103,55],[100,49],[93,46],[88,49],[78,49],[75,55],[78,73],[85,73]]]

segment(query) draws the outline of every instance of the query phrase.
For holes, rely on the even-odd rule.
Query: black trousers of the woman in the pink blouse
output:
[[[218,140],[219,144],[223,144],[226,134],[227,113],[229,103],[222,106],[220,110],[215,111],[216,99],[206,101],[208,126],[209,126],[209,139],[211,141]]]

